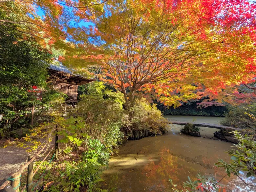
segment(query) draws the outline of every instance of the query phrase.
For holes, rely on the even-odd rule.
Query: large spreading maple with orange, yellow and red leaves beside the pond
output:
[[[127,107],[138,91],[175,107],[203,96],[230,102],[255,77],[255,9],[246,0],[108,1],[65,59],[102,65]]]

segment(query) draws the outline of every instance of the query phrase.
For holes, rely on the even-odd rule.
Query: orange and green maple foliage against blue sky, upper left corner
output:
[[[32,36],[43,46],[68,49],[75,30],[83,28],[79,22],[88,22],[99,14],[107,1],[0,0],[0,26],[15,28],[25,39]]]

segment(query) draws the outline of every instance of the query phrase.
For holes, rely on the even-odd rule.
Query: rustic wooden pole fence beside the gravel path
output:
[[[58,140],[58,136],[56,136],[55,138],[56,140]],[[53,148],[51,148],[51,150],[47,153],[47,155],[44,157],[44,159],[42,160],[42,162],[37,166],[37,168],[35,169],[35,171],[33,172],[33,162],[35,160],[35,158],[41,154],[41,152],[44,150],[44,148],[46,147],[46,144],[32,157],[29,156],[29,161],[20,168],[19,171],[17,171],[16,173],[13,173],[8,179],[6,179],[6,181],[4,183],[1,184],[0,186],[0,190],[4,189],[9,183],[11,183],[11,186],[13,188],[13,190],[15,192],[19,192],[19,187],[20,187],[20,179],[21,179],[21,173],[22,171],[24,171],[25,168],[28,167],[28,175],[27,175],[27,184],[24,185],[21,189],[21,192],[23,192],[25,189],[27,189],[27,192],[32,192],[33,189],[36,187],[36,185],[38,184],[38,182],[41,180],[41,178],[43,177],[43,174],[46,172],[43,172],[43,174],[40,176],[39,180],[36,182],[36,184],[34,186],[32,186],[33,184],[33,176],[35,175],[35,173],[38,171],[38,169],[40,168],[40,166],[43,164],[43,162],[47,159],[47,157],[50,155],[50,153],[53,151]],[[58,145],[55,142],[55,153],[58,150]],[[50,161],[50,163],[52,162],[54,156],[56,159],[57,154],[55,155],[55,153],[53,154],[53,157]],[[49,164],[50,164],[49,163]]]

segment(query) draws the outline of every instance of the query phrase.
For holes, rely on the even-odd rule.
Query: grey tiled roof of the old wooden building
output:
[[[59,71],[59,72],[63,72],[63,73],[68,73],[68,74],[71,74],[73,76],[80,77],[80,78],[83,78],[83,79],[95,79],[94,77],[85,77],[85,76],[82,76],[82,75],[79,75],[79,74],[75,74],[74,69],[68,68],[68,67],[62,65],[62,62],[59,62],[59,61],[56,61],[56,60],[53,61],[53,63],[49,64],[48,69],[52,69],[54,71]]]

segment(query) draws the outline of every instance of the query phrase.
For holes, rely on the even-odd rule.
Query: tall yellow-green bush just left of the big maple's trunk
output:
[[[89,125],[86,133],[100,140],[110,151],[122,143],[123,96],[105,89],[102,82],[92,83],[87,95],[80,96],[77,113]]]

